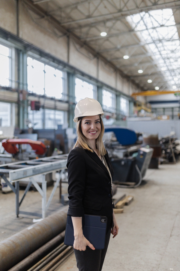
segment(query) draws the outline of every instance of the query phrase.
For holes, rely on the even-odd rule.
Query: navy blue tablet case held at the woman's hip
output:
[[[82,216],[82,232],[85,238],[96,248],[103,249],[106,238],[107,217],[84,215]],[[64,244],[73,246],[74,229],[71,216],[67,216]]]

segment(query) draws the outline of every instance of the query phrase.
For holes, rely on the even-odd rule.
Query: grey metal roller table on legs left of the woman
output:
[[[56,188],[58,187],[62,174],[66,170],[68,154],[56,155],[51,157],[44,157],[39,159],[20,161],[10,164],[0,165],[0,176],[7,185],[10,186],[12,191],[16,195],[16,216],[19,214],[28,214],[33,216],[40,216],[42,218],[46,217],[46,211],[49,208],[53,195]],[[58,178],[55,181],[55,185],[52,189],[51,195],[48,201],[46,201],[46,179],[45,175],[51,172],[59,172]],[[35,176],[42,176],[37,180]],[[7,179],[9,177],[9,180]],[[28,179],[27,179],[28,178]],[[27,182],[27,186],[23,193],[21,200],[19,201],[19,181],[23,179],[23,182]],[[15,183],[15,186],[12,184]],[[19,207],[22,204],[27,192],[29,191],[31,185],[34,185],[42,196],[42,213],[24,212],[20,211]]]

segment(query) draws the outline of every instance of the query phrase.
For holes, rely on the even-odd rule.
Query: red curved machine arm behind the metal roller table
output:
[[[29,144],[31,148],[35,151],[38,155],[43,155],[46,153],[46,146],[38,140],[31,140],[31,139],[3,139],[2,146],[8,153],[17,154],[19,149],[16,147],[16,144]]]

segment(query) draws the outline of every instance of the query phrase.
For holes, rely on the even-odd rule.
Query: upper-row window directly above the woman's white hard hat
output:
[[[79,78],[75,79],[75,101],[76,103],[84,98],[97,99],[97,87]]]

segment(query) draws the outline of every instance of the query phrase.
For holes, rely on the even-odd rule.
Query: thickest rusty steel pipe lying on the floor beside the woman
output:
[[[66,226],[68,206],[0,242],[0,269],[9,270],[61,233]]]

